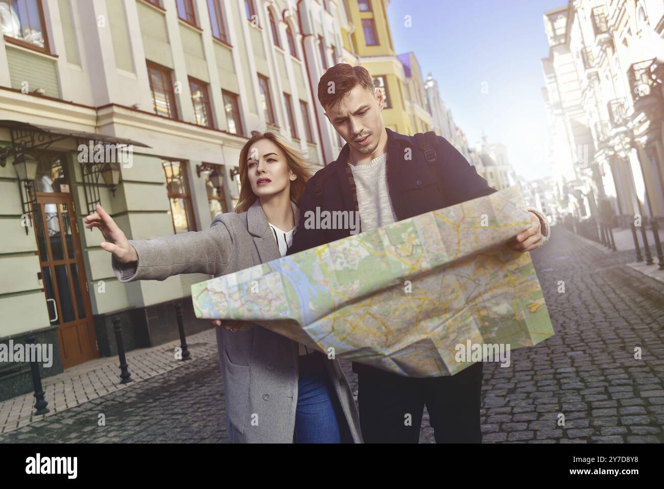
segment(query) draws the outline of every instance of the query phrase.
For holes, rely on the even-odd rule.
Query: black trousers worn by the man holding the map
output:
[[[365,443],[418,443],[425,405],[436,443],[481,443],[482,377],[481,362],[426,379],[362,369],[358,402]]]

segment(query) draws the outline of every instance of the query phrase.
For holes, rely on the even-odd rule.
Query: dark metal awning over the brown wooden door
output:
[[[49,146],[56,141],[65,140],[68,138],[72,138],[77,141],[94,141],[119,144],[121,146],[128,146],[131,144],[133,146],[150,147],[147,146],[147,144],[139,143],[137,141],[128,140],[125,138],[116,138],[116,136],[106,136],[106,134],[96,134],[94,132],[68,131],[61,128],[52,128],[50,126],[28,124],[27,122],[19,122],[17,120],[0,120],[0,128],[11,130],[12,142],[18,143],[19,141],[32,139],[33,144],[31,147],[33,148],[38,148],[42,145]],[[35,137],[37,140],[35,140]]]

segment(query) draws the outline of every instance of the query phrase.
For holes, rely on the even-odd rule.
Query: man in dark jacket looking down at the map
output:
[[[337,161],[307,182],[288,254],[351,234],[350,229],[307,229],[304,216],[317,206],[359,211],[361,231],[367,231],[496,191],[441,136],[430,164],[414,137],[386,129],[382,92],[374,89],[365,68],[337,64],[327,70],[318,84],[318,100],[347,144]],[[532,227],[506,243],[515,250],[534,250],[548,239],[546,219],[529,210]],[[481,442],[481,362],[454,376],[426,379],[360,363],[353,363],[353,371],[359,379],[365,442],[418,442],[425,405],[436,442]]]

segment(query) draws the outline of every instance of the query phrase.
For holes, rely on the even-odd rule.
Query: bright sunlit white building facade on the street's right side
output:
[[[664,1],[574,0],[544,13],[560,215],[664,215]]]

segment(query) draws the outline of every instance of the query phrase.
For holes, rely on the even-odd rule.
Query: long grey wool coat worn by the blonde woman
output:
[[[291,205],[297,224],[299,209]],[[113,258],[120,282],[165,280],[181,273],[216,277],[281,257],[258,199],[246,212],[217,215],[206,231],[129,243],[136,249],[138,262],[120,264]],[[235,333],[216,328],[216,340],[230,440],[293,442],[297,343],[251,323],[242,324]],[[361,443],[359,415],[349,383],[336,359],[325,359],[325,364],[352,440]]]

